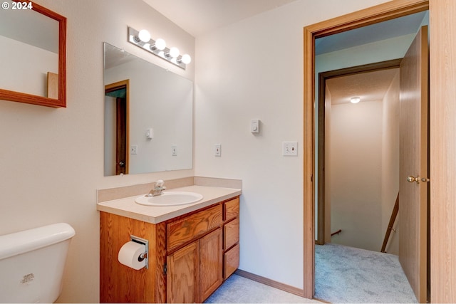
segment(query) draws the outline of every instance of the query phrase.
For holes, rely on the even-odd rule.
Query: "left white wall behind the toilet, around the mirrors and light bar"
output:
[[[0,234],[68,222],[76,230],[60,302],[99,300],[95,190],[193,175],[193,170],[103,177],[103,41],[194,78],[127,41],[127,26],[195,57],[195,38],[140,0],[38,0],[68,19],[67,108],[0,100]],[[16,12],[15,14],[20,14]]]

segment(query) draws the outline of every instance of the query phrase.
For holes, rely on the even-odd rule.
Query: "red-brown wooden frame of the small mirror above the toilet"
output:
[[[21,0],[13,0],[20,2]],[[66,108],[66,17],[46,7],[29,1],[33,11],[58,21],[58,99],[4,90],[0,88],[0,100],[17,101],[52,108]]]

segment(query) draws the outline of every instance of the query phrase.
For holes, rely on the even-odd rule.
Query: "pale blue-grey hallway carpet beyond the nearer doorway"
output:
[[[315,298],[331,303],[417,303],[398,256],[333,243],[315,246]]]

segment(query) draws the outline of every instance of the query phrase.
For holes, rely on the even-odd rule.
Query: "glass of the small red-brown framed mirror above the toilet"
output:
[[[1,88],[48,97],[47,73],[58,74],[58,22],[29,9],[1,9],[0,46]]]

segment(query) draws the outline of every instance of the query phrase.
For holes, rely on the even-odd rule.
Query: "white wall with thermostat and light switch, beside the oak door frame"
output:
[[[195,173],[243,180],[242,270],[302,288],[303,27],[381,2],[294,1],[197,37]]]

